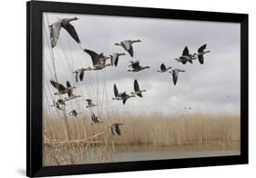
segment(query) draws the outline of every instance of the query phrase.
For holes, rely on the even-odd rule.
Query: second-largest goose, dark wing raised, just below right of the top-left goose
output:
[[[93,64],[93,67],[87,67],[86,70],[101,70],[106,66],[111,65],[111,64],[106,64],[106,60],[108,59],[108,57],[103,55],[103,53],[97,54],[96,52],[88,49],[84,49],[84,52],[90,55],[92,59],[92,64]]]

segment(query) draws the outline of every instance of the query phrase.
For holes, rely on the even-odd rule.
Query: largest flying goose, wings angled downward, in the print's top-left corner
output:
[[[50,39],[51,39],[51,45],[52,47],[56,46],[59,32],[61,30],[61,27],[63,27],[69,35],[78,43],[80,44],[79,37],[77,35],[76,29],[73,25],[70,24],[71,21],[77,20],[77,17],[73,18],[62,18],[58,19],[55,23],[52,25],[49,25],[50,27]]]

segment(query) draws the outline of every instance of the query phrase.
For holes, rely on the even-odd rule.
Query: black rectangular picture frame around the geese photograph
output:
[[[42,165],[42,13],[121,15],[241,24],[241,155],[128,163]],[[113,173],[248,163],[248,18],[246,14],[169,10],[114,5],[30,1],[26,3],[26,175]]]

